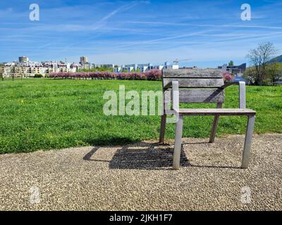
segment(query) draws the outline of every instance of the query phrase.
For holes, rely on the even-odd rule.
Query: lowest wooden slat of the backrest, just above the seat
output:
[[[180,103],[223,103],[224,91],[221,89],[180,89]],[[171,89],[165,91],[165,103],[171,100]]]

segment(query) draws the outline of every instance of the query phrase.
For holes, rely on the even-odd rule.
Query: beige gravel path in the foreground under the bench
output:
[[[282,134],[0,155],[0,210],[282,210]],[[250,191],[250,194],[249,194]],[[39,198],[38,198],[39,196]]]

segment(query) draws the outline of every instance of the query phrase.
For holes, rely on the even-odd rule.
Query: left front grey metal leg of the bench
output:
[[[173,151],[173,169],[179,169],[180,167],[182,131],[183,131],[183,115],[179,115],[178,122],[176,122],[176,139],[174,142],[174,151]]]

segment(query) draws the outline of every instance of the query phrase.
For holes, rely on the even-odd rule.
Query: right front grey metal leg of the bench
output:
[[[244,145],[244,151],[243,151],[243,160],[241,168],[247,169],[249,165],[249,159],[250,159],[250,149],[252,146],[252,133],[254,131],[255,127],[255,115],[248,116],[247,120],[247,131],[245,136],[245,145]]]

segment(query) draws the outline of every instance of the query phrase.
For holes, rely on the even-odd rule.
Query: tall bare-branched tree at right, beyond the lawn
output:
[[[271,42],[264,42],[259,44],[257,49],[251,49],[247,54],[250,63],[255,67],[255,84],[262,85],[263,80],[266,79],[266,67],[271,58],[278,53],[274,44]]]

